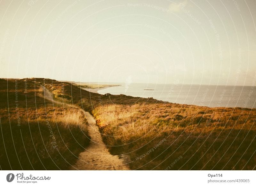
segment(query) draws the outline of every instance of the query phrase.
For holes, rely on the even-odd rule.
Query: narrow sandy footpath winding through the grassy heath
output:
[[[57,104],[63,104],[58,101],[54,101],[52,93],[44,89],[44,98],[53,101]],[[69,105],[72,106],[72,105]],[[84,111],[83,111],[84,112]],[[71,167],[71,170],[130,170],[128,166],[124,164],[124,156],[111,155],[102,141],[99,128],[96,125],[96,121],[89,112],[84,112],[86,119],[89,123],[88,131],[91,136],[91,142],[84,152],[79,154],[76,164]]]

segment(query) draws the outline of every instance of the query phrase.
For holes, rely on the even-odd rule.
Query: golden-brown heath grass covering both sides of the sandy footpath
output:
[[[1,80],[1,83],[6,83],[4,81]],[[20,80],[20,84],[22,81],[24,80]],[[14,102],[15,81],[12,80],[8,84],[9,108],[6,106],[7,86],[0,88],[1,127],[5,127],[4,139],[9,140],[8,143],[5,143],[6,140],[4,141],[4,144],[9,145],[6,148],[9,149],[7,154],[12,153],[11,157],[17,159],[13,165],[19,165],[18,159],[24,161],[27,159],[24,165],[28,166],[28,157],[31,157],[30,160],[35,158],[31,164],[38,165],[39,169],[44,169],[42,165],[49,166],[46,169],[70,167],[68,163],[72,164],[76,160],[72,153],[79,154],[88,144],[87,130],[83,124],[84,116],[83,112],[80,112],[80,108],[82,108],[91,112],[96,118],[103,141],[110,153],[126,154],[132,161],[128,164],[131,169],[255,170],[256,109],[209,108],[172,104],[153,98],[99,95],[80,89],[69,82],[38,78],[36,82],[32,82],[35,79],[30,81],[29,92],[26,96],[19,95],[19,112],[24,116],[22,122],[27,118],[26,97],[29,121],[31,121],[29,124],[22,123],[21,125],[21,128],[25,127],[24,132],[23,128],[21,131],[23,139],[28,138],[25,145],[22,143],[21,133],[17,127]],[[54,105],[53,107],[52,103],[43,99],[40,85],[45,85],[52,91],[54,100],[72,104],[73,107],[63,108],[63,105]],[[20,91],[23,90],[20,89]],[[58,148],[58,150],[62,150],[61,153],[57,153],[51,147],[51,139],[47,134],[49,131],[45,124],[46,115],[51,123],[52,131],[60,143],[58,145],[63,147]],[[65,117],[68,121],[64,119]],[[30,134],[30,131],[33,132]],[[42,132],[43,137],[38,135],[39,131],[45,132]],[[15,138],[12,138],[12,135]],[[31,139],[38,140],[36,141],[38,148],[34,147]],[[43,142],[48,146],[44,147]],[[32,147],[29,148],[26,144],[32,144]],[[66,144],[67,146],[65,146]],[[2,146],[1,143],[1,152],[5,152]],[[17,151],[18,156],[14,147],[20,149]],[[26,151],[30,149],[31,153],[33,152],[31,156],[27,157],[24,147],[26,147]],[[51,149],[48,150],[49,148]],[[45,151],[42,153],[44,157],[38,158],[36,152],[42,151],[42,149],[50,151],[51,156]],[[2,154],[1,159],[6,156]],[[52,157],[55,157],[53,161]],[[41,163],[39,159],[45,159],[45,162]],[[65,163],[64,159],[68,159],[68,163]],[[1,167],[4,165],[2,162]],[[8,164],[6,158],[4,162]],[[54,162],[57,162],[58,166]],[[65,165],[61,167],[62,164]],[[29,169],[31,166],[27,168]]]

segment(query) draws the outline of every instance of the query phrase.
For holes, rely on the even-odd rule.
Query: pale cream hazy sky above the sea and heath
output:
[[[247,85],[255,0],[0,1],[0,77]]]

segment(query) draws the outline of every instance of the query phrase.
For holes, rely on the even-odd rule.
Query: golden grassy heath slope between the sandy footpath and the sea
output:
[[[99,95],[68,82],[45,81],[54,99],[94,114],[110,152],[127,154],[131,169],[255,169],[255,109]]]

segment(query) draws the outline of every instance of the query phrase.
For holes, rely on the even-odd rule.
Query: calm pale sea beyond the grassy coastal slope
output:
[[[256,108],[256,87],[248,86],[124,83],[121,86],[101,89],[98,93],[153,97],[187,105]]]

